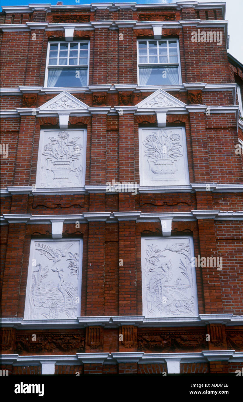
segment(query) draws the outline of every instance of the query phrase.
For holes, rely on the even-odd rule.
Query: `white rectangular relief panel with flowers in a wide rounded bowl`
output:
[[[183,127],[139,129],[141,186],[189,184],[187,147]]]

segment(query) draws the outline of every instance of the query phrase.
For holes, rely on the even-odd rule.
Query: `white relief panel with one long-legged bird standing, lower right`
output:
[[[142,300],[145,317],[198,316],[191,237],[142,238]]]

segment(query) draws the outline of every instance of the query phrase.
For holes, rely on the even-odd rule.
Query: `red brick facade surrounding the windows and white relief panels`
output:
[[[26,7],[22,12],[3,7],[0,18],[1,144],[8,144],[8,157],[1,155],[1,347],[3,355],[8,355],[2,369],[9,369],[12,374],[41,373],[38,356],[54,355],[55,374],[162,375],[171,372],[171,353],[179,356],[180,373],[228,373],[241,369],[243,148],[241,154],[236,154],[235,149],[239,140],[243,141],[243,122],[235,84],[243,93],[243,68],[227,57],[227,22],[222,4],[209,4],[207,10],[200,8],[200,3],[191,7],[158,4],[156,8],[111,3],[86,8],[77,4],[72,8],[45,5]],[[189,24],[189,20],[194,23]],[[195,20],[201,22],[197,25]],[[170,26],[172,21],[175,27]],[[215,22],[213,27],[209,21]],[[222,21],[222,26],[218,26],[218,21]],[[154,39],[153,27],[159,22],[162,39],[179,39],[182,84],[162,89],[188,105],[187,113],[167,113],[166,127],[185,128],[192,186],[184,191],[138,190],[136,195],[106,193],[105,185],[112,180],[140,182],[138,130],[159,127],[156,111],[134,113],[132,109],[159,89],[138,86],[136,45],[137,39]],[[44,87],[47,44],[65,42],[65,23],[73,25],[74,41],[90,41],[88,87],[64,88],[92,107],[87,115],[75,115],[72,111],[67,127],[87,130],[88,187],[79,193],[35,194],[32,186],[36,183],[41,129],[60,129],[57,114],[39,112],[43,104],[62,92],[60,88]],[[222,45],[192,42],[192,31],[199,27],[206,32],[222,33]],[[197,109],[195,105],[201,107]],[[119,108],[126,113],[118,113]],[[33,114],[33,110],[37,113]],[[205,191],[206,183],[212,185],[210,191]],[[188,325],[186,321],[176,325],[166,321],[141,323],[141,237],[162,236],[159,218],[149,219],[149,214],[192,211],[194,219],[173,219],[171,236],[190,235],[195,256],[220,256],[224,262],[222,271],[196,267],[200,320]],[[209,211],[214,211],[214,216],[207,215]],[[131,219],[123,218],[122,212],[124,216],[130,213]],[[83,218],[92,213],[97,214],[96,219]],[[111,222],[110,218],[102,218],[102,213],[120,215],[113,214]],[[141,213],[148,218],[136,218],[144,216]],[[75,215],[75,221],[80,216],[79,228],[73,222],[64,222],[62,238],[83,239],[79,315],[82,320],[75,325],[53,322],[48,329],[45,323],[42,327],[36,322],[24,326],[21,319],[31,239],[51,239],[50,219],[59,215],[69,215],[68,219]],[[30,216],[45,220],[36,224]],[[108,322],[104,319],[107,317],[111,317]],[[31,341],[32,334],[37,336],[36,343]],[[119,340],[120,334],[123,341]],[[210,341],[206,340],[207,334]],[[212,352],[210,359],[202,351]],[[222,351],[229,351],[227,360],[221,359]],[[237,360],[230,351],[241,352],[241,357]],[[183,361],[183,353],[188,352],[200,354],[201,362],[196,363],[193,358],[190,363]],[[85,360],[85,353],[111,354],[112,359],[110,363],[92,363]],[[130,357],[124,361],[119,353],[130,353]],[[146,362],[146,353],[165,353],[165,358]],[[16,354],[19,365],[11,357]],[[76,358],[76,354],[82,357]],[[62,355],[73,355],[74,360],[62,362],[58,360]],[[29,366],[21,363],[21,356],[33,356]]]

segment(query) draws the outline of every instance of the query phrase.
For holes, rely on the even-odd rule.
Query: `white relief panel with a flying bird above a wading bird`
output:
[[[31,240],[25,320],[80,316],[82,240]]]

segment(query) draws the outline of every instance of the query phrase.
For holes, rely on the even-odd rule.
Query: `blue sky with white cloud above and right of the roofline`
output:
[[[55,1],[38,1],[33,0],[34,4],[51,4],[55,5],[58,0]],[[109,0],[108,0],[109,1]],[[108,2],[96,0],[93,1],[94,3],[102,3]],[[80,0],[79,3],[76,3],[75,0],[62,0],[64,5],[72,4],[90,4],[91,2]],[[119,2],[119,1],[115,1]],[[199,3],[202,2],[210,2],[208,0],[198,0]],[[213,0],[213,2],[221,3],[221,0]],[[243,64],[243,40],[242,40],[242,15],[243,15],[243,0],[224,0],[226,3],[226,20],[229,21],[229,31],[228,34],[230,35],[230,42],[229,42],[229,50],[228,52],[231,53],[237,60],[239,60]],[[32,3],[32,4],[33,4]],[[122,1],[122,3],[127,3],[126,1]],[[146,4],[146,3],[162,3],[161,0],[138,0],[136,1],[138,4]],[[174,0],[167,0],[167,4],[175,3]],[[1,6],[26,6],[28,1],[25,0],[1,0]]]

